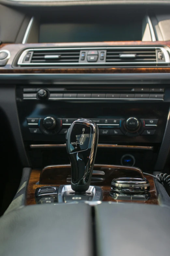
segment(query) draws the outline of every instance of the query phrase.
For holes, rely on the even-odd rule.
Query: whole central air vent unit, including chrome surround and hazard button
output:
[[[169,65],[163,46],[108,46],[27,49],[21,54],[20,66],[137,67]]]

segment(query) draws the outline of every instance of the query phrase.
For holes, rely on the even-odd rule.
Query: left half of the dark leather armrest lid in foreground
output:
[[[92,256],[91,207],[26,206],[0,218],[0,255]]]

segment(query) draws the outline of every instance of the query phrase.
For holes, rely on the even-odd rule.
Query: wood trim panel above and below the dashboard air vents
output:
[[[170,47],[170,41],[163,42],[96,42],[96,43],[29,43],[29,44],[1,44],[1,49],[7,49],[11,53],[5,67],[0,67],[0,74],[135,74],[135,73],[170,73],[170,67],[148,67],[148,68],[12,68],[16,55],[26,48],[37,47],[79,47],[79,46],[153,46],[164,45]]]

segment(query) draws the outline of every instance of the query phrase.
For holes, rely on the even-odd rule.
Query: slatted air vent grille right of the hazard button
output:
[[[121,58],[121,56],[124,56]],[[128,57],[129,56],[129,57]],[[156,49],[107,49],[107,62],[156,62]]]

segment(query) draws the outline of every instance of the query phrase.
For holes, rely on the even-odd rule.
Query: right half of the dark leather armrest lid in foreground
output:
[[[169,255],[170,209],[147,204],[95,206],[98,256]]]

